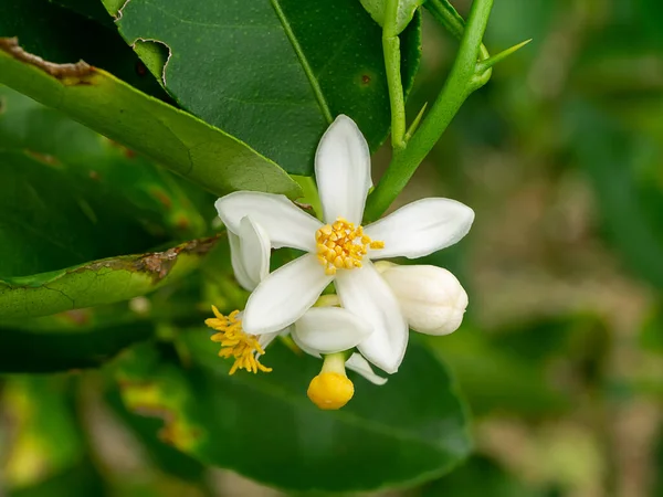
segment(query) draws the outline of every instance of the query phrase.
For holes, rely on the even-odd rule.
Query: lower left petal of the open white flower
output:
[[[334,277],[325,274],[315,254],[306,254],[280,267],[253,290],[242,327],[252,335],[281,330],[299,319],[315,304]]]

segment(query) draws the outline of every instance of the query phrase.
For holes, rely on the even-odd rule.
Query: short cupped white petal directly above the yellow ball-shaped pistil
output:
[[[334,353],[357,347],[371,332],[371,326],[349,310],[313,307],[295,321],[292,337],[308,353]]]

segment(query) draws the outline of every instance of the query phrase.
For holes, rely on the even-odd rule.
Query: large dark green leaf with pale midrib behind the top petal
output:
[[[387,136],[381,30],[357,0],[131,0],[122,10],[103,1],[178,104],[291,173],[313,173],[316,145],[338,114],[357,121],[373,150]],[[420,34],[419,18],[402,34],[407,89]],[[168,50],[161,64],[145,54],[154,43]]]

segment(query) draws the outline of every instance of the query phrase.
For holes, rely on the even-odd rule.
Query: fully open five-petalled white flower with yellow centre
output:
[[[215,203],[230,231],[238,233],[249,215],[272,246],[307,252],[261,282],[246,304],[244,327],[256,335],[285,328],[334,281],[343,307],[372,326],[359,351],[393,373],[406,351],[408,324],[370,260],[421,257],[452,245],[467,233],[474,212],[454,200],[423,199],[362,229],[370,155],[357,125],[343,115],[320,140],[315,173],[326,225],[284,195],[240,191]]]

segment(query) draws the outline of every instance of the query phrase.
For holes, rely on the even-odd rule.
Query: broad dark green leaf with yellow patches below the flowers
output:
[[[208,337],[180,336],[190,368],[146,345],[116,371],[127,408],[164,420],[161,437],[208,464],[290,491],[359,491],[439,477],[470,451],[455,388],[415,342],[386,385],[352,377],[355,398],[330,412],[306,398],[319,360],[274,343],[273,372],[231,377]]]

